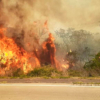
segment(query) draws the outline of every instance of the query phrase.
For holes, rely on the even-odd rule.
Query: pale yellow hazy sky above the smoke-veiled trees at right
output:
[[[57,14],[55,18],[65,28],[100,32],[100,0],[62,0]]]

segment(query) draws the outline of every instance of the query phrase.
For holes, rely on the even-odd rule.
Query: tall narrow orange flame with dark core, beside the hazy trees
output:
[[[44,61],[48,64],[56,64],[56,59],[55,59],[55,52],[56,48],[54,45],[54,37],[52,36],[51,33],[49,33],[49,38],[43,43],[43,51],[44,51]]]

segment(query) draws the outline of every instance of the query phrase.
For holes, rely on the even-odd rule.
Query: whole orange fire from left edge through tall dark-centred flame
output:
[[[45,27],[47,28],[47,22]],[[18,68],[27,73],[42,64],[51,64],[56,67],[56,49],[51,33],[40,49],[36,48],[28,52],[15,42],[15,38],[7,37],[6,32],[7,28],[0,27],[0,75]],[[30,44],[27,45],[30,46]]]

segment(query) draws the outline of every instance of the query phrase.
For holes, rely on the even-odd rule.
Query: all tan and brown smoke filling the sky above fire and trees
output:
[[[8,27],[6,36],[32,51],[48,36],[45,34],[48,30],[44,29],[46,20],[52,32],[69,27],[98,32],[99,5],[99,0],[0,0],[0,24]],[[57,42],[63,43],[53,35]]]

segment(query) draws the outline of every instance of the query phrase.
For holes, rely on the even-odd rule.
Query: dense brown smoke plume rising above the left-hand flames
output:
[[[17,45],[27,51],[39,49],[39,43],[42,44],[48,35],[45,35],[45,20],[40,19],[40,16],[40,21],[37,19],[37,2],[38,0],[0,1],[0,25],[7,27],[6,36],[13,37]]]

